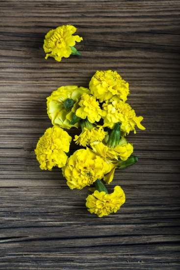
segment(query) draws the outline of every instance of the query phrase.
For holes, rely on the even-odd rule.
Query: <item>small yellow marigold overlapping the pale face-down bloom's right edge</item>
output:
[[[96,99],[88,94],[83,94],[78,103],[80,108],[77,109],[76,115],[82,119],[89,120],[90,123],[95,121],[100,121],[102,115],[102,109],[99,106],[99,102]]]

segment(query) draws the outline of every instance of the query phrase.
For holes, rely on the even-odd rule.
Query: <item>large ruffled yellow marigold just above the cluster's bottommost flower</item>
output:
[[[70,189],[82,189],[102,179],[112,168],[113,164],[86,148],[77,150],[62,171]]]

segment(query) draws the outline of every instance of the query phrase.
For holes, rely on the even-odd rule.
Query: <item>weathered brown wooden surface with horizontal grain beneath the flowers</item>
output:
[[[180,1],[0,1],[0,269],[180,269]],[[45,33],[73,24],[82,57],[44,59]],[[41,171],[33,149],[51,126],[46,97],[96,70],[129,81],[146,131],[139,162],[115,173],[126,204],[97,218],[87,189]]]

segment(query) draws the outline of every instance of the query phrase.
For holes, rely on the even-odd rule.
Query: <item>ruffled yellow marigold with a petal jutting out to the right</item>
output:
[[[130,131],[135,131],[135,126],[141,130],[145,127],[141,125],[142,116],[136,116],[135,111],[128,103],[120,101],[118,98],[113,98],[110,101],[103,103],[102,118],[104,120],[104,127],[113,128],[117,122],[121,123],[121,131],[129,134]]]

